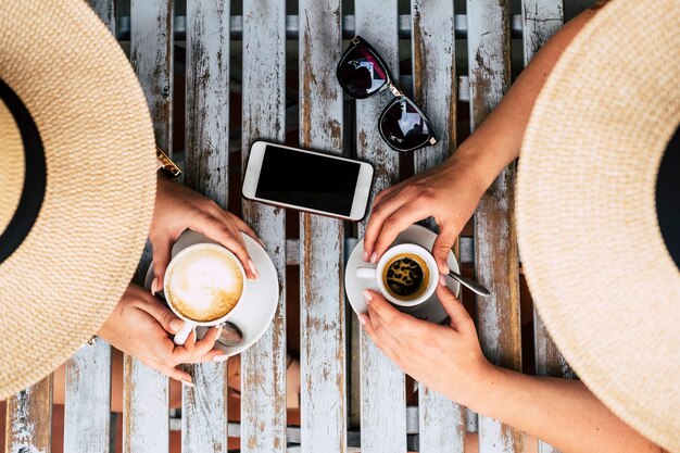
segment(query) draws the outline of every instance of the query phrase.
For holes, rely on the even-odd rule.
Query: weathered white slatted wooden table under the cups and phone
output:
[[[355,130],[358,158],[375,165],[374,193],[395,184],[400,156],[377,133],[387,96],[356,103],[355,125],[347,124],[343,92],[335,70],[343,37],[361,34],[386,58],[399,77],[398,42],[411,41],[415,100],[427,112],[441,141],[413,154],[416,172],[446,159],[455,149],[456,99],[469,96],[471,126],[499,102],[511,81],[511,33],[524,30],[525,61],[563,23],[562,0],[524,0],[522,14],[509,14],[508,0],[468,0],[467,11],[451,0],[412,0],[398,14],[396,0],[356,1],[343,15],[341,0],[300,0],[297,15],[285,2],[243,0],[242,14],[230,16],[229,1],[188,0],[184,20],[173,21],[171,0],[133,0],[129,25],[115,20],[114,0],[90,0],[112,33],[127,34],[130,59],[147,95],[158,143],[172,149],[173,42],[186,39],[186,184],[227,206],[228,150],[240,144],[242,162],[256,139],[284,142],[287,130],[287,43],[298,43],[300,146],[341,154]],[[177,29],[175,29],[177,28]],[[344,30],[344,32],[343,32]],[[288,34],[288,38],[287,38]],[[297,38],[295,38],[297,37]],[[469,71],[456,73],[455,40],[467,37]],[[242,42],[241,143],[229,142],[229,49]],[[402,41],[404,42],[404,41]],[[411,79],[405,79],[406,81]],[[403,161],[402,161],[403,162]],[[482,285],[494,298],[477,309],[484,353],[496,364],[521,368],[518,256],[513,216],[515,166],[491,187],[476,214],[474,238],[456,246],[463,262],[475,260]],[[281,288],[286,266],[301,267],[302,394],[299,430],[287,433],[286,291],[264,337],[243,354],[240,427],[227,423],[225,364],[193,366],[196,388],[185,388],[182,451],[225,452],[229,428],[240,428],[241,451],[345,452],[361,441],[364,453],[463,452],[465,432],[478,431],[482,452],[522,452],[524,435],[488,417],[465,411],[427,388],[419,405],[406,407],[404,375],[360,332],[347,310],[343,290],[345,226],[340,221],[300,215],[300,239],[287,240],[286,212],[243,202],[245,221],[266,243]],[[363,236],[365,222],[354,236]],[[349,242],[353,243],[353,242]],[[142,260],[140,273],[148,264]],[[539,373],[559,376],[564,360],[538,322]],[[110,347],[98,341],[67,364],[64,451],[110,449]],[[352,373],[349,373],[349,364]],[[358,366],[357,366],[358,365]],[[353,383],[352,383],[353,382]],[[12,398],[8,407],[5,451],[50,451],[52,379]],[[125,360],[124,452],[168,450],[168,380],[133,357]],[[350,418],[350,415],[352,418]],[[358,421],[358,435],[350,419]],[[417,437],[407,437],[417,435]],[[349,435],[348,435],[349,432]],[[348,440],[349,439],[349,440]],[[552,451],[542,445],[543,452]]]

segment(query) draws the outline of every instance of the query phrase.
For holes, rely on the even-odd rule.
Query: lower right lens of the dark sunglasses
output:
[[[435,137],[429,122],[406,99],[393,102],[382,113],[380,133],[392,148],[402,151],[420,148]]]

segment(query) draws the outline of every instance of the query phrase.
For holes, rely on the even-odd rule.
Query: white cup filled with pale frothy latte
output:
[[[175,344],[184,344],[198,326],[213,327],[229,319],[247,281],[238,257],[222,246],[196,243],[177,253],[163,279],[167,304],[185,322],[175,334]]]

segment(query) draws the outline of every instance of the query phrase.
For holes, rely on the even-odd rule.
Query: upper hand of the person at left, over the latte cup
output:
[[[162,289],[165,268],[171,261],[173,244],[186,229],[201,232],[229,249],[239,259],[248,278],[259,278],[240,231],[260,243],[262,240],[243,221],[222,210],[211,199],[159,175],[158,193],[149,240],[153,248],[151,292]],[[264,247],[264,244],[263,244]]]

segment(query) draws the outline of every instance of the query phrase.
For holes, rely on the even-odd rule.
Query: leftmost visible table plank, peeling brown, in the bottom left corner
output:
[[[53,380],[50,375],[8,400],[5,452],[50,453]]]

